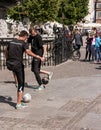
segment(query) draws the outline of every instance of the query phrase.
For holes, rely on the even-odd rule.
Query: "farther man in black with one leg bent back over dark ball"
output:
[[[43,57],[43,59],[45,60],[46,47],[45,45],[43,45],[42,37],[37,33],[37,30],[34,27],[29,29],[29,33],[31,35],[28,38],[28,43],[31,43],[32,52]],[[39,84],[39,86],[37,87],[38,90],[42,90],[44,88],[44,85],[40,77],[40,73],[47,74],[49,76],[49,79],[51,79],[53,74],[52,72],[40,70],[40,68],[41,68],[41,60],[33,57],[31,70],[32,72],[34,72],[36,80]]]

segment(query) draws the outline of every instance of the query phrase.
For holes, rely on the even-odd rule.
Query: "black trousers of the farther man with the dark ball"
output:
[[[34,72],[35,78],[39,85],[42,84],[42,80],[40,77],[40,68],[41,68],[41,60],[33,58],[31,70],[32,72]]]

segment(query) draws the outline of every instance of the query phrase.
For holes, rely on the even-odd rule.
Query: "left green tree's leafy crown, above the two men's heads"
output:
[[[21,20],[27,16],[33,23],[53,21],[59,10],[60,0],[23,0],[17,6],[8,10],[8,15],[14,20]]]

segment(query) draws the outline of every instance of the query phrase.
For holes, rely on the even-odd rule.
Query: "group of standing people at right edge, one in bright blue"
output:
[[[87,34],[86,38],[86,53],[85,61],[93,61],[98,63],[101,60],[101,32],[98,32],[96,28]]]

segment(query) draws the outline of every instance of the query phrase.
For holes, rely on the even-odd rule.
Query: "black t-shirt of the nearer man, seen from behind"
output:
[[[14,39],[8,44],[7,60],[14,63],[23,63],[23,53],[28,49],[28,44],[22,40]]]

